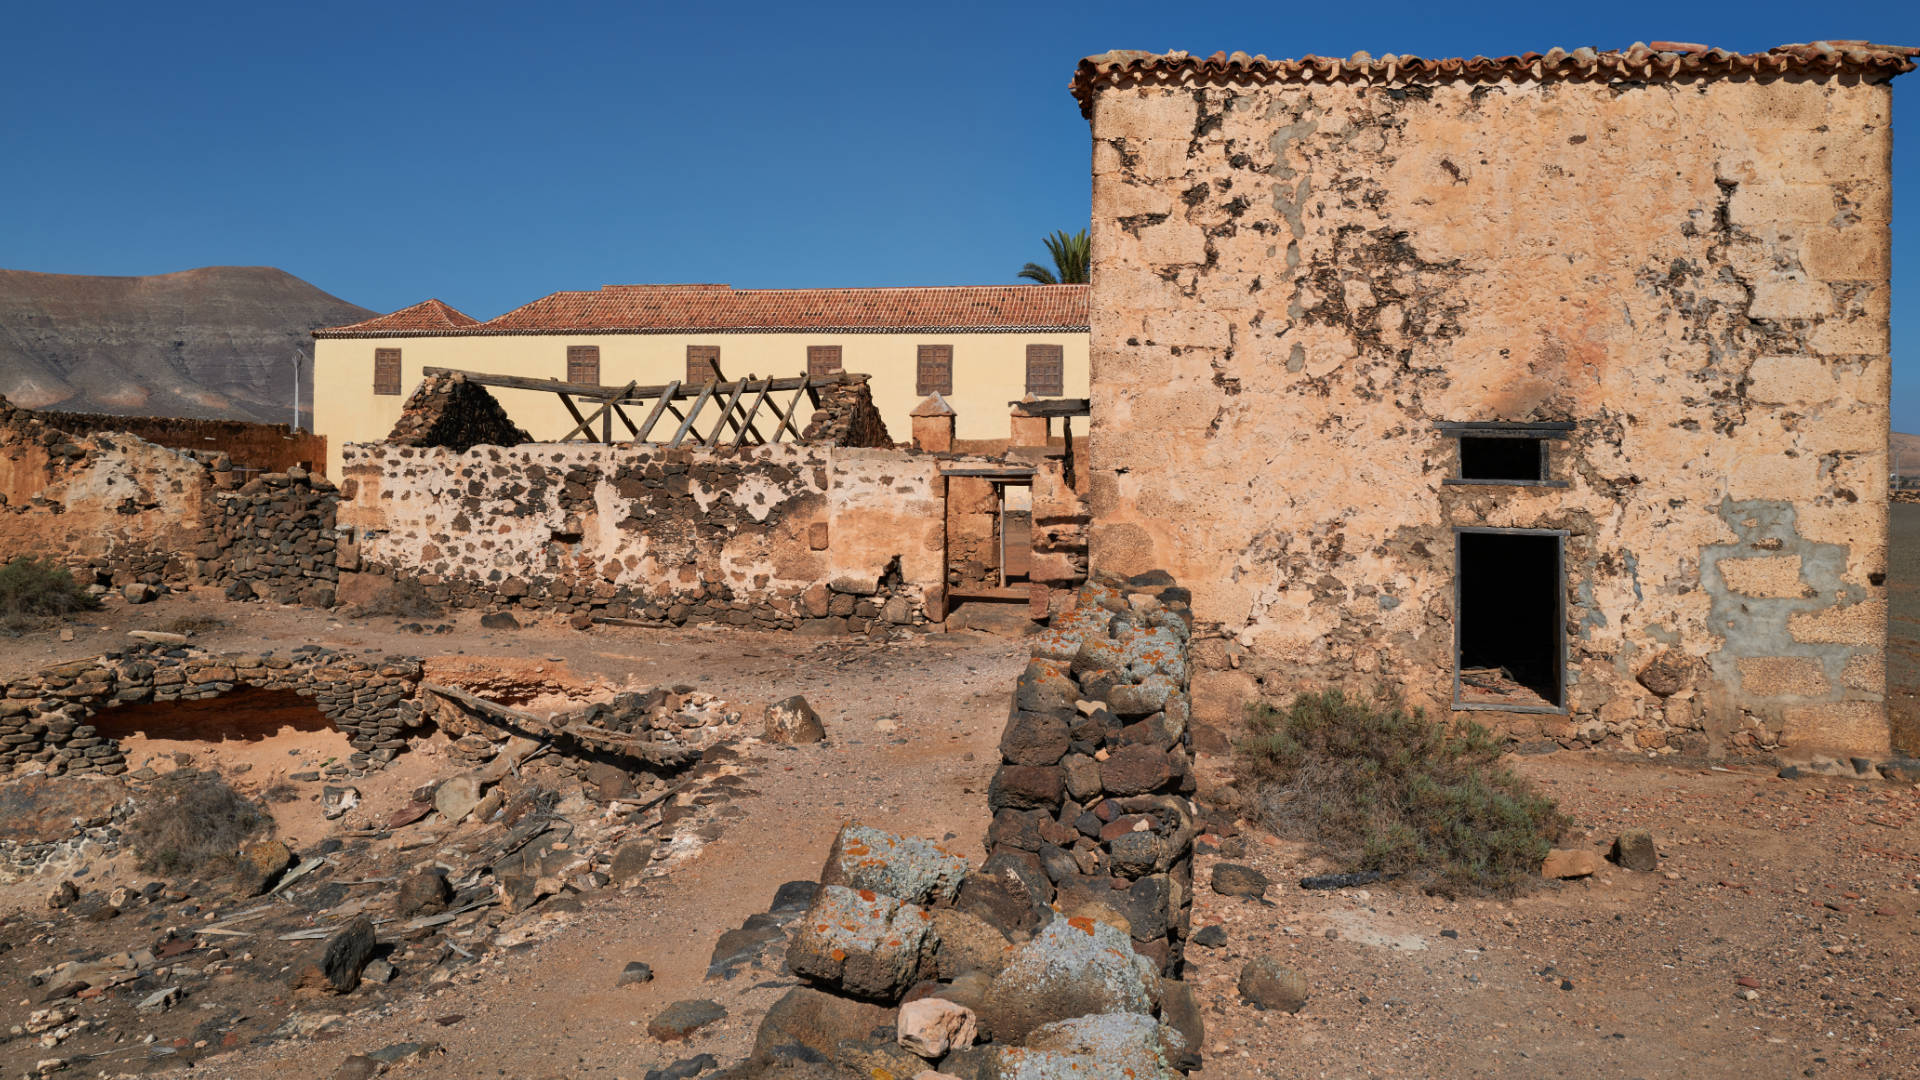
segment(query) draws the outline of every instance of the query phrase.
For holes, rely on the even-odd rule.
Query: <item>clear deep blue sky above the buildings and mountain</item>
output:
[[[1087,223],[1108,48],[1920,44],[1920,4],[29,4],[0,8],[0,267],[276,265],[388,311],[557,288],[1014,281]],[[1895,83],[1920,125],[1920,73]],[[1908,129],[1912,131],[1912,129]],[[1895,427],[1920,430],[1895,142]]]

